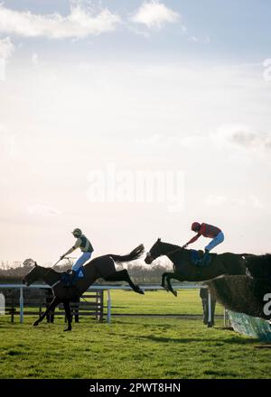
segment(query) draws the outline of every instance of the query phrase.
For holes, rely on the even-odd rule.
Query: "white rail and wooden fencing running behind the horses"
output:
[[[164,288],[158,285],[141,285],[140,288],[144,291],[164,291]],[[202,288],[208,289],[207,286],[201,284],[174,284],[175,290],[200,290]],[[126,286],[91,286],[80,300],[70,303],[71,314],[75,321],[78,321],[79,316],[94,316],[98,321],[107,318],[107,323],[110,323],[112,316],[110,291],[112,290],[132,291],[130,287]],[[104,297],[104,292],[107,292],[107,299]],[[21,323],[23,323],[24,316],[41,315],[52,300],[51,287],[44,284],[33,284],[29,287],[23,284],[0,284],[0,294],[5,296],[5,314],[10,314],[12,321],[14,321],[15,315],[19,315]],[[54,316],[64,314],[63,307],[60,305],[54,313],[48,314],[47,321],[53,322]],[[211,324],[211,321],[211,298],[208,290],[208,324]]]

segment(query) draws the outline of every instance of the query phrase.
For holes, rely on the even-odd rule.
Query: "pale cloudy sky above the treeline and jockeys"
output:
[[[271,241],[271,5],[6,0],[0,5],[0,260]],[[192,247],[204,248],[201,237]],[[79,252],[75,253],[79,256]]]

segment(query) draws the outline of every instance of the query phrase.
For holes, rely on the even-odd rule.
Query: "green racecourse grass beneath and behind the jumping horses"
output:
[[[149,306],[154,296],[147,298]],[[116,291],[113,303],[116,310],[133,307],[135,298],[140,302],[140,296]],[[177,301],[170,295],[161,300],[160,310]],[[200,300],[197,305],[201,312]],[[271,373],[270,350],[255,349],[255,339],[206,328],[201,320],[113,315],[110,325],[82,319],[71,333],[62,332],[63,319],[37,328],[32,322],[27,317],[11,324],[0,317],[1,378],[268,378]]]

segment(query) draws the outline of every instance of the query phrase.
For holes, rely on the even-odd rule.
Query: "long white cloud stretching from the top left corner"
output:
[[[52,39],[86,38],[90,34],[115,30],[120,18],[103,9],[94,15],[93,11],[75,4],[70,14],[33,14],[30,11],[15,11],[0,5],[0,32],[24,37],[45,36]]]

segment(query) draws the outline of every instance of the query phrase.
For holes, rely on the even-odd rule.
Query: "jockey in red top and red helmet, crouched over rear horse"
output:
[[[204,237],[212,238],[209,245],[206,245],[205,247],[205,254],[203,255],[203,258],[197,263],[201,266],[204,266],[209,258],[210,250],[224,241],[223,232],[220,230],[219,227],[211,226],[206,223],[200,224],[199,222],[194,222],[192,224],[192,231],[197,233],[197,235],[192,237],[192,239],[188,243],[186,243],[186,245],[183,245],[182,248],[186,248],[187,245],[190,245],[197,241],[198,238],[201,237],[201,235],[203,235]]]

